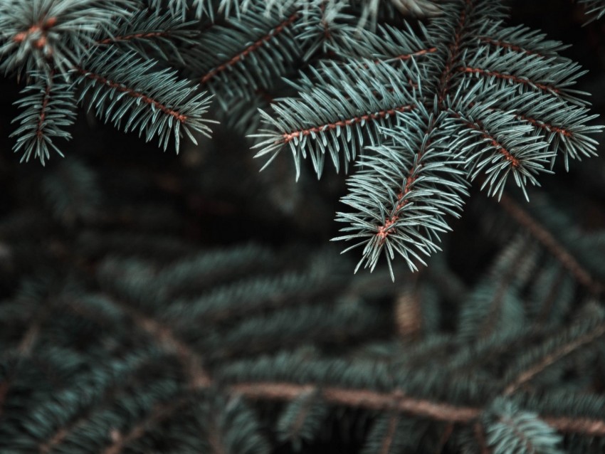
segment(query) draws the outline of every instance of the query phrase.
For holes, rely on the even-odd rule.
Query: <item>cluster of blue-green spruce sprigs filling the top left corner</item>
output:
[[[157,136],[164,149],[170,137],[178,151],[182,135],[195,142],[194,132],[208,134],[209,120],[202,118],[208,98],[165,68],[184,64],[179,46],[194,44],[191,22],[135,0],[10,0],[0,22],[0,68],[25,74],[33,88],[23,93],[38,93],[19,101],[26,112],[16,119],[14,151],[24,160],[44,163],[51,149],[63,156],[53,139],[70,137],[73,106],[93,85],[100,117],[147,140]]]

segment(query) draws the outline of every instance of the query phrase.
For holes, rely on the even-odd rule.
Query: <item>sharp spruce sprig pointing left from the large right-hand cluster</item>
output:
[[[365,143],[379,142],[380,126],[396,125],[397,112],[414,108],[414,94],[409,93],[406,81],[387,65],[324,63],[316,74],[322,77],[322,85],[300,93],[298,99],[285,98],[271,105],[276,118],[261,112],[265,125],[276,131],[266,129],[251,136],[261,139],[254,146],[261,149],[256,157],[270,154],[265,166],[287,145],[295,159],[297,179],[300,159],[307,153],[318,175],[326,154],[337,170],[344,162],[348,171]]]

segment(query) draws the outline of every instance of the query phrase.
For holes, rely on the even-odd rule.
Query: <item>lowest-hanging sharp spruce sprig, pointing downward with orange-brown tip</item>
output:
[[[395,253],[415,270],[416,260],[424,263],[421,255],[438,250],[439,234],[449,230],[445,216],[459,215],[466,189],[458,162],[444,146],[446,137],[436,128],[445,120],[419,106],[399,116],[405,128],[385,132],[391,143],[370,147],[372,154],[360,160],[362,170],[349,179],[349,195],[342,199],[357,213],[338,214],[337,221],[349,226],[335,238],[356,242],[347,250],[364,248],[357,268],[373,270],[384,249],[391,278]]]

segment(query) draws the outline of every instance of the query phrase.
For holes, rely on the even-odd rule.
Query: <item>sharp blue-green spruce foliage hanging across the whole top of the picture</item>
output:
[[[306,157],[318,176],[326,157],[362,169],[339,238],[362,248],[359,265],[373,269],[384,250],[416,269],[450,230],[443,214],[460,214],[459,171],[498,198],[514,181],[527,198],[557,158],[568,169],[595,154],[601,127],[574,89],[584,72],[506,16],[487,0],[11,0],[1,65],[27,81],[15,151],[62,154],[75,104],[177,152],[181,137],[209,134],[211,111],[266,164],[290,149],[297,177]],[[431,167],[448,171],[416,176],[424,146],[399,157],[419,129],[445,150],[429,152]],[[430,216],[404,209],[418,197]]]

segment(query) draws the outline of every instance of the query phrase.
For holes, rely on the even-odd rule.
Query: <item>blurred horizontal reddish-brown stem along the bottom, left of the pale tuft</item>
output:
[[[282,382],[239,383],[231,386],[231,391],[252,399],[293,400],[303,393],[315,389],[314,385],[300,385]],[[369,410],[393,410],[430,418],[434,421],[468,423],[476,418],[481,409],[453,406],[449,403],[432,402],[405,396],[400,391],[381,393],[368,389],[343,389],[322,387],[320,397],[337,405],[362,407]]]

